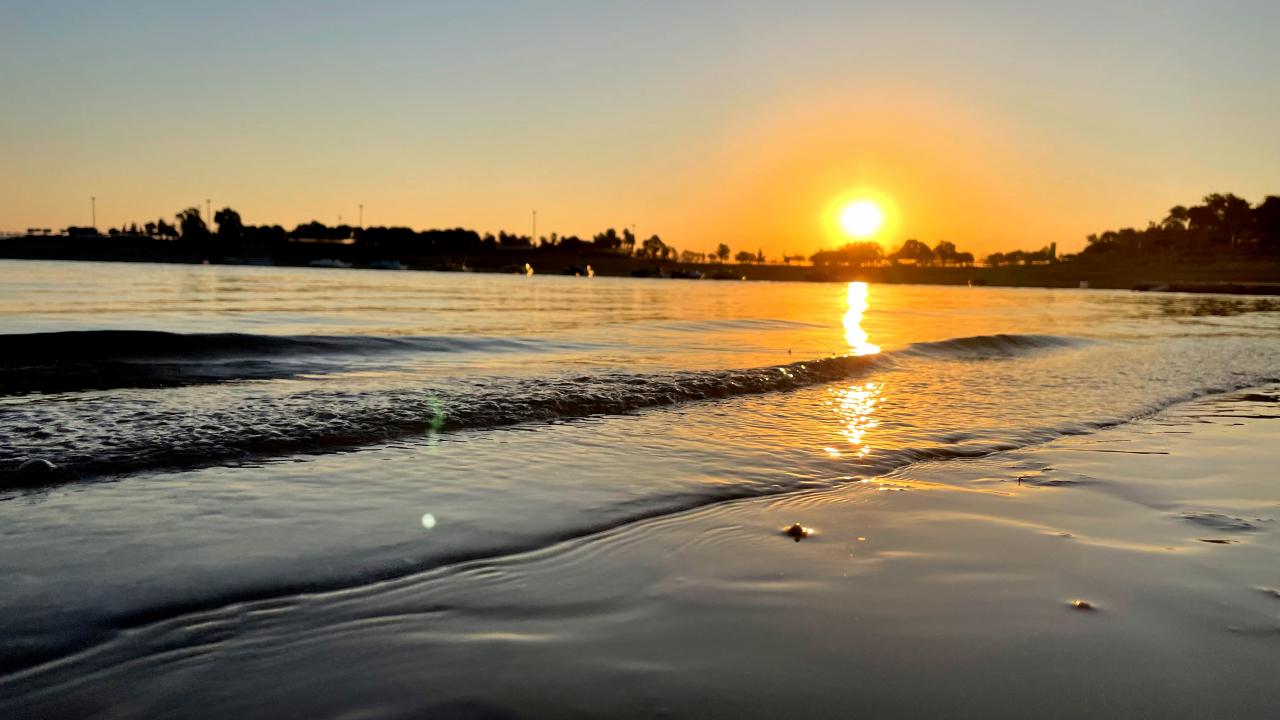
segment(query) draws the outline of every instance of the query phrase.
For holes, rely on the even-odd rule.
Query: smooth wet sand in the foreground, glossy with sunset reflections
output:
[[[1277,398],[142,625],[0,708],[1274,717]]]

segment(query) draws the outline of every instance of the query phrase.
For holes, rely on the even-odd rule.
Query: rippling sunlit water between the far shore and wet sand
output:
[[[1280,305],[0,261],[0,671],[1280,377]]]

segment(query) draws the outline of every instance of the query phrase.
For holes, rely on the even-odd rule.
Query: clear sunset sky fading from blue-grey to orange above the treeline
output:
[[[986,255],[1280,195],[1280,3],[0,0],[0,231],[317,219]]]

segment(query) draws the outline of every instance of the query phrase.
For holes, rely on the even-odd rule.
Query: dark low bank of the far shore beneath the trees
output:
[[[1100,259],[1074,259],[1041,265],[1002,266],[844,266],[754,263],[680,263],[621,254],[557,252],[547,249],[497,249],[463,256],[419,256],[372,259],[349,245],[296,245],[287,258],[225,258],[211,264],[308,266],[334,261],[339,266],[367,269],[375,265],[412,270],[466,270],[479,273],[520,272],[527,263],[536,274],[585,274],[586,266],[603,277],[652,277],[746,279],[774,282],[851,282],[887,284],[951,284],[991,287],[1056,287],[1208,292],[1230,295],[1280,295],[1280,260],[1217,260],[1175,263],[1164,259],[1120,264]],[[152,238],[78,238],[22,236],[0,238],[0,259],[78,260],[123,263],[205,264],[205,259],[174,241]]]

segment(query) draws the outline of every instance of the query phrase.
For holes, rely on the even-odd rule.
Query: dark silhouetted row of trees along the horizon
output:
[[[175,217],[113,228],[111,237],[147,237],[188,243],[207,256],[271,255],[292,242],[349,243],[384,258],[415,255],[466,255],[500,249],[561,251],[566,254],[617,254],[645,260],[678,260],[682,263],[765,263],[763,251],[746,250],[733,254],[719,243],[712,252],[678,251],[653,234],[640,241],[631,229],[608,228],[590,238],[550,233],[539,238],[499,232],[480,234],[465,228],[415,231],[407,227],[325,225],[317,220],[301,223],[292,231],[282,225],[248,225],[239,213],[223,208],[214,213],[210,228],[198,208],[187,208]],[[72,236],[97,236],[96,228],[67,228]],[[1121,228],[1089,234],[1088,246],[1079,258],[1172,256],[1203,260],[1210,258],[1243,258],[1280,255],[1280,196],[1267,196],[1257,205],[1233,193],[1206,195],[1198,205],[1171,208],[1158,222],[1143,229]],[[1059,258],[1056,243],[1039,250],[993,252],[982,264],[991,266],[1048,264],[1073,260]],[[978,264],[972,252],[960,251],[950,241],[933,247],[919,240],[906,240],[896,250],[886,251],[878,242],[850,242],[836,250],[820,250],[809,258],[782,255],[786,264],[809,260],[817,266],[877,266],[910,264],[922,266],[970,266]]]

